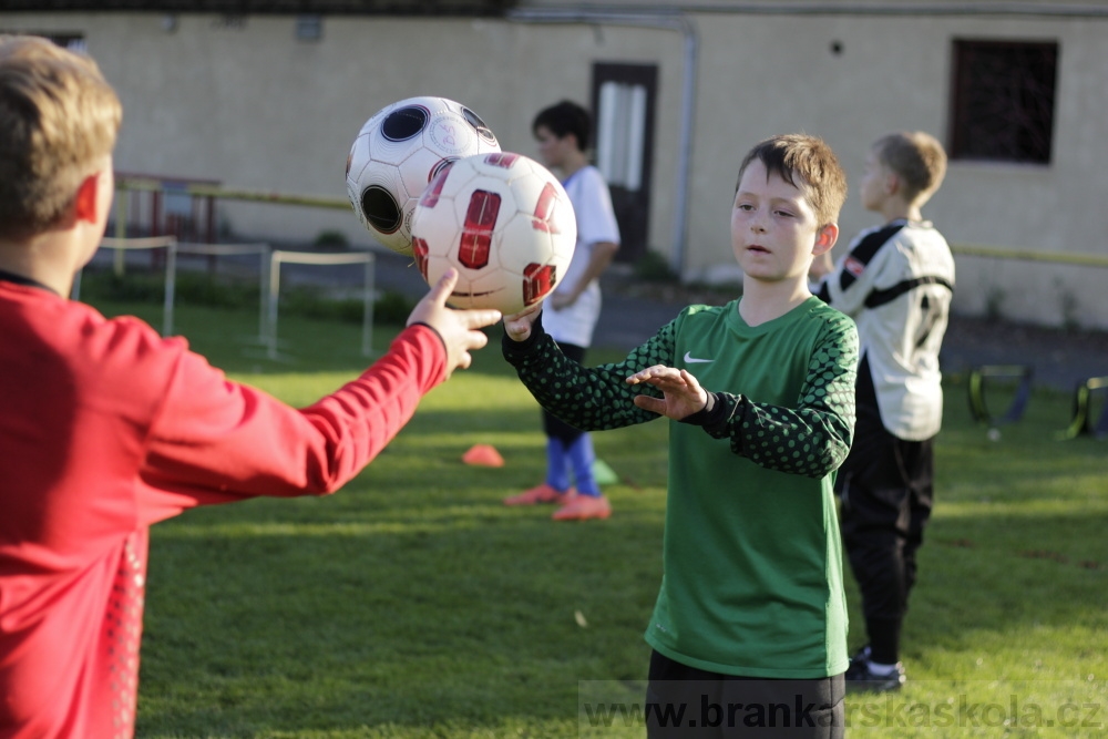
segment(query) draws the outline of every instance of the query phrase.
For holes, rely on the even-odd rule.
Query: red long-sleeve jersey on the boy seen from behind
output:
[[[131,737],[148,526],[338,490],[444,374],[414,326],[297,410],[137,319],[0,281],[0,738]]]

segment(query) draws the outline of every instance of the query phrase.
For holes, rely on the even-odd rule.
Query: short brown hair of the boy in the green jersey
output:
[[[815,211],[819,227],[837,223],[847,202],[847,175],[831,147],[819,136],[790,133],[759,142],[742,160],[738,183],[750,163],[760,160],[766,174],[776,174],[800,189]],[[799,182],[798,182],[799,178]]]

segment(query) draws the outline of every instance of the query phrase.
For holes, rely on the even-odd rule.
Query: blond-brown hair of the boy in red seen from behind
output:
[[[0,238],[58,224],[111,155],[123,117],[96,63],[30,35],[0,35]]]

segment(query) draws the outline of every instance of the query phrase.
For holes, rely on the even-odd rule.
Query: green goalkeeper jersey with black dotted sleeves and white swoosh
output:
[[[659,394],[626,378],[687,369],[710,413],[670,422],[665,572],[646,640],[728,675],[817,678],[847,668],[847,606],[832,483],[854,423],[858,333],[810,298],[758,326],[738,301],[691,306],[620,362],[566,359],[536,322],[504,356],[538,402],[582,430],[642,423]],[[702,424],[702,425],[701,425]]]

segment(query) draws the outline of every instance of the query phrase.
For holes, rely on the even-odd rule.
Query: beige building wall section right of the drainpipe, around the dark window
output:
[[[870,142],[899,129],[946,138],[954,39],[1057,41],[1054,155],[1047,166],[952,162],[924,208],[953,244],[1108,255],[1108,18],[965,16],[697,17],[702,44],[687,260],[695,275],[729,257],[726,195],[736,148],[779,131],[825,137],[850,176],[843,237],[875,223],[856,198]],[[831,47],[839,44],[841,53]],[[726,122],[726,123],[721,123]],[[710,208],[710,211],[709,211]],[[844,248],[841,244],[839,248]],[[955,309],[1039,324],[1108,327],[1105,268],[958,258]]]

